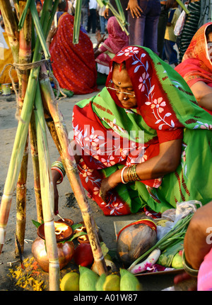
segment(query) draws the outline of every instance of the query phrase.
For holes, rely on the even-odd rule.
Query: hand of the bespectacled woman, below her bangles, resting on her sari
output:
[[[114,172],[114,174],[111,174],[109,177],[102,179],[102,184],[100,187],[100,196],[106,203],[109,201],[108,192],[114,189],[114,187],[117,187],[117,185],[121,182],[120,174],[117,174],[117,172]]]

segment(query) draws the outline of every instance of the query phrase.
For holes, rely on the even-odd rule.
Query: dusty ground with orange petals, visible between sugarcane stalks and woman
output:
[[[99,87],[101,89],[101,87]],[[61,99],[59,101],[59,109],[64,116],[68,132],[71,132],[71,114],[74,104],[81,99],[93,96],[72,96],[71,98]],[[0,129],[1,129],[1,175],[0,175],[0,199],[4,192],[4,184],[8,172],[8,165],[13,149],[13,142],[16,135],[18,121],[15,118],[16,114],[16,95],[0,96]],[[54,145],[52,137],[48,134],[48,145],[50,160],[53,162],[59,156],[57,148]],[[27,180],[27,204],[26,204],[26,228],[25,239],[35,240],[37,237],[37,229],[32,220],[37,220],[37,212],[35,206],[35,193],[33,187],[33,167],[31,156],[28,156],[28,180]],[[65,177],[64,182],[59,184],[59,214],[63,218],[71,218],[74,223],[79,223],[83,220],[81,210],[78,207],[69,180]],[[90,207],[93,211],[93,216],[97,226],[100,228],[103,242],[110,250],[116,250],[116,239],[114,233],[114,221],[137,220],[141,218],[141,213],[129,216],[104,216],[97,204],[89,199]],[[55,220],[58,217],[55,216]],[[15,233],[16,233],[16,191],[13,194],[8,223],[6,226],[6,240],[3,247],[3,252],[0,255],[0,291],[32,291],[37,287],[41,290],[49,289],[49,275],[42,271],[33,258],[31,248],[32,241],[25,243],[23,253],[25,270],[20,268],[20,262],[16,262],[18,257],[15,257]],[[15,261],[15,262],[14,262]],[[62,278],[66,272],[75,269],[73,261],[61,270],[60,277]],[[33,279],[32,279],[33,277]],[[165,275],[142,275],[139,280],[145,291],[160,291],[167,287],[174,286],[173,278],[175,274]],[[19,281],[19,282],[18,282]],[[187,290],[195,284],[196,280],[192,279],[182,284],[175,285],[175,290]],[[33,286],[34,283],[34,286]]]

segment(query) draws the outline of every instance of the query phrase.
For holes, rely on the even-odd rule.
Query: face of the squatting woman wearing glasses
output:
[[[119,70],[119,67],[114,67],[112,82],[114,84],[114,89],[117,89],[116,94],[122,106],[126,109],[136,107],[137,101],[134,96],[134,89],[126,69]],[[124,92],[126,94],[124,94]]]

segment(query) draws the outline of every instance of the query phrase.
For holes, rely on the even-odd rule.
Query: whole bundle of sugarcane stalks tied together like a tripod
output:
[[[59,111],[57,101],[54,97],[54,92],[50,84],[48,77],[42,77],[46,73],[44,62],[49,59],[49,50],[45,43],[45,38],[52,24],[54,13],[56,12],[59,0],[45,0],[42,7],[41,17],[38,17],[35,7],[35,1],[33,0],[16,0],[15,8],[18,13],[20,21],[17,25],[16,18],[13,16],[11,4],[9,1],[0,0],[0,9],[5,22],[6,32],[8,33],[11,50],[13,51],[13,58],[18,70],[19,76],[19,100],[20,109],[18,113],[18,129],[16,138],[13,145],[13,151],[11,154],[11,162],[8,168],[8,174],[6,177],[6,183],[4,186],[4,194],[1,200],[0,207],[0,253],[4,245],[6,235],[6,224],[8,222],[8,215],[10,211],[13,191],[17,186],[17,182],[23,182],[25,184],[27,162],[25,161],[25,154],[28,148],[28,129],[30,126],[30,143],[31,151],[35,162],[33,162],[33,169],[35,172],[35,188],[40,190],[42,199],[42,211],[40,206],[37,207],[38,218],[44,219],[45,222],[45,238],[47,245],[47,254],[49,256],[49,289],[59,290],[59,260],[57,254],[57,244],[54,231],[53,211],[54,211],[54,196],[52,189],[52,177],[51,169],[49,165],[49,152],[47,146],[47,135],[45,131],[45,115],[42,103],[45,107],[45,113],[52,119],[51,133],[54,138],[54,142],[57,145],[61,160],[64,162],[67,176],[71,183],[71,187],[76,196],[78,204],[80,206],[83,221],[87,228],[88,238],[93,250],[93,257],[97,263],[99,274],[107,272],[105,260],[102,255],[100,247],[100,241],[98,239],[97,226],[95,225],[94,218],[91,214],[88,199],[83,190],[81,180],[79,179],[76,162],[73,158],[73,154],[69,151],[69,140],[66,127]],[[80,25],[80,8],[81,0],[78,1],[78,14],[75,18],[75,35],[74,42],[78,41],[79,25]],[[32,16],[33,26],[32,35],[27,35],[30,32],[30,18]],[[118,15],[117,15],[118,17]],[[119,20],[123,18],[119,17]],[[34,28],[36,29],[36,40]],[[26,30],[27,29],[27,30]],[[20,30],[20,37],[19,32]],[[30,38],[29,38],[30,37]],[[31,38],[32,37],[32,38]],[[29,41],[32,48],[29,48]],[[21,48],[19,47],[21,45]],[[31,60],[31,49],[32,60]],[[30,50],[30,52],[29,52]],[[42,62],[42,51],[45,55],[45,60]],[[30,54],[30,55],[29,55]],[[21,56],[20,56],[21,55]],[[24,55],[24,56],[23,56]],[[20,60],[21,58],[21,60]],[[25,63],[32,63],[25,67]],[[42,74],[39,84],[40,66],[42,65]],[[27,71],[30,71],[28,73]],[[23,73],[24,71],[24,73]],[[23,75],[22,75],[23,74]],[[27,84],[27,86],[26,86]],[[40,88],[42,90],[42,97],[40,94]],[[22,105],[23,104],[23,105]],[[34,111],[33,111],[33,106]],[[49,125],[48,125],[49,126]],[[37,158],[38,155],[38,158]],[[42,166],[40,166],[42,164]],[[45,166],[44,166],[45,165]],[[19,177],[19,179],[18,179]],[[40,199],[40,194],[37,194],[37,199]],[[25,231],[25,192],[18,194],[18,208],[22,210],[22,214],[18,211],[17,218],[20,220],[17,226],[17,240],[20,244],[20,240],[23,240]],[[22,209],[23,208],[23,209]],[[39,219],[38,219],[39,220]],[[23,250],[23,248],[22,248]]]

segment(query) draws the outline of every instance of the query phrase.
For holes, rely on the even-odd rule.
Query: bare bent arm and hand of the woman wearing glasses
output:
[[[170,172],[174,172],[179,165],[182,151],[182,140],[170,140],[160,144],[160,153],[147,160],[146,162],[139,163],[136,166],[136,173],[141,180],[156,179],[164,176]],[[124,181],[127,182],[127,171],[124,170]],[[100,194],[102,199],[107,202],[107,192],[110,189],[117,187],[122,182],[122,170],[117,170],[109,177],[102,180],[100,187]]]

